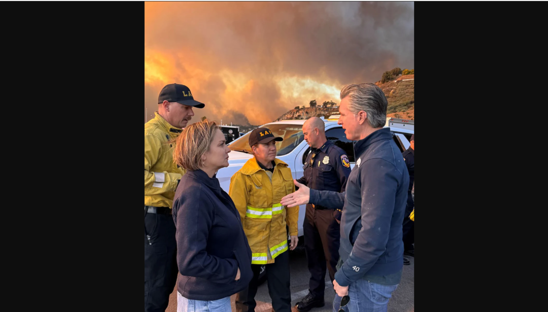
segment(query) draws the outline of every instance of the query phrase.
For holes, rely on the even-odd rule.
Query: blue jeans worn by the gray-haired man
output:
[[[348,287],[350,302],[343,307],[343,310],[345,312],[386,312],[388,300],[392,298],[392,292],[397,287],[398,285],[381,285],[364,279],[352,282]],[[335,294],[333,312],[339,311],[341,299],[343,298]]]

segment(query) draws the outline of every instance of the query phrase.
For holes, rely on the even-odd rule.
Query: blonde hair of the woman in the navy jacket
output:
[[[215,131],[219,129],[216,121],[204,120],[185,127],[177,137],[173,160],[186,170],[200,169],[202,156],[209,151]]]

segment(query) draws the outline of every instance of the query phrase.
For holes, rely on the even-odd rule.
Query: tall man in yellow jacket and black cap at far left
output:
[[[173,162],[173,140],[194,116],[192,108],[204,106],[187,86],[172,83],[160,91],[158,112],[145,124],[145,312],[165,311],[175,287],[172,206],[185,171]]]

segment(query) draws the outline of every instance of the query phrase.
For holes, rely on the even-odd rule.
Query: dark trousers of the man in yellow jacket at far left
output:
[[[145,312],[164,312],[179,271],[173,216],[147,213],[145,232]]]

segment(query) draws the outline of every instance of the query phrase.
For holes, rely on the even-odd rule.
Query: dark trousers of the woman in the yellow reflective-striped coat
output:
[[[289,250],[276,257],[274,263],[266,264],[266,278],[269,285],[272,310],[291,312],[291,289],[289,289]],[[259,287],[260,264],[252,264],[253,278],[249,287],[236,294],[237,312],[255,312],[255,294]]]

